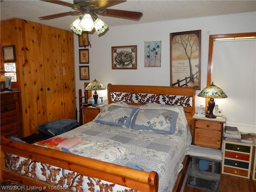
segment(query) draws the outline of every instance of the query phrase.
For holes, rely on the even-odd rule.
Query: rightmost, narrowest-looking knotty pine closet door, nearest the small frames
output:
[[[60,53],[62,66],[63,118],[76,119],[73,32],[60,30]]]

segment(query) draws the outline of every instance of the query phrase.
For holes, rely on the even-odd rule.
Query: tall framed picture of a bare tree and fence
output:
[[[170,33],[170,86],[201,88],[201,30]]]

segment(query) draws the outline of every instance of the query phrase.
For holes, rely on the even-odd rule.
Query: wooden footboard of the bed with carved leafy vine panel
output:
[[[9,154],[32,159],[32,161],[24,161],[22,165],[16,168],[13,165],[18,161],[19,157],[10,158]],[[46,181],[42,181],[35,174],[35,162],[50,164],[72,172],[64,174],[58,180],[56,176],[61,170],[48,166],[50,174],[45,175]],[[29,166],[31,168],[28,168]],[[24,170],[24,174],[18,174],[20,169]],[[129,190],[129,188],[142,192],[158,191],[158,174],[156,172],[144,172],[54,149],[1,138],[1,181],[9,179],[27,186],[42,186],[47,191],[82,191],[82,176],[88,176],[90,182],[87,184],[90,187],[90,191],[94,191],[95,183],[102,192],[111,191],[107,189],[111,189],[115,184],[126,186],[127,190],[124,190],[124,192],[133,191]],[[50,182],[50,179],[53,182]],[[95,182],[92,182],[93,180]],[[102,180],[113,184],[106,184]],[[63,184],[66,185],[64,186]]]

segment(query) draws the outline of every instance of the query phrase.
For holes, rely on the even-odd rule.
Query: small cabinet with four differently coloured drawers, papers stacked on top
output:
[[[254,155],[253,144],[223,141],[222,174],[250,178]]]

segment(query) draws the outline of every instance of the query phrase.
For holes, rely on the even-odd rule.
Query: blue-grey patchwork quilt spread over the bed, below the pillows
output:
[[[192,141],[188,125],[178,128],[177,134],[168,135],[90,122],[62,136],[77,136],[125,148],[127,152],[112,163],[156,171],[159,174],[159,192],[172,191]],[[70,152],[79,153],[75,148],[71,148]]]

